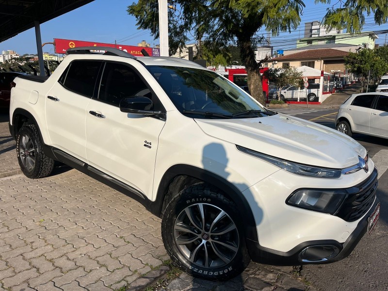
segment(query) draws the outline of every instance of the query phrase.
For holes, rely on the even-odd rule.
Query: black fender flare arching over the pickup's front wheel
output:
[[[168,191],[168,186],[174,180],[175,177],[181,175],[197,178],[206,183],[214,185],[215,187],[226,193],[227,196],[237,205],[238,210],[241,211],[241,213],[244,213],[245,237],[255,242],[259,241],[255,218],[247,200],[245,199],[241,191],[232,183],[227,181],[225,178],[220,177],[208,170],[201,169],[192,165],[173,165],[164,173],[158,187],[156,200],[153,201],[150,205],[150,210],[153,214],[157,216],[161,215],[162,205],[164,197]]]

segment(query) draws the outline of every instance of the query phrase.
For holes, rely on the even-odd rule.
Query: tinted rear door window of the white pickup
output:
[[[102,62],[98,61],[74,61],[65,70],[59,81],[66,89],[92,97],[101,64]]]

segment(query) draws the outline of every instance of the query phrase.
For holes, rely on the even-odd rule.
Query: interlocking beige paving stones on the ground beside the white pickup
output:
[[[142,290],[166,274],[158,217],[68,167],[48,178],[21,175],[5,119],[0,115],[0,291]],[[251,263],[224,283],[182,274],[168,288],[307,290],[290,272]]]

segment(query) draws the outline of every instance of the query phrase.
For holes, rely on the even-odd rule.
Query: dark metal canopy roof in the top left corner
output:
[[[93,0],[0,0],[0,42]]]

